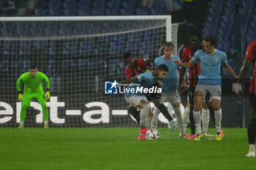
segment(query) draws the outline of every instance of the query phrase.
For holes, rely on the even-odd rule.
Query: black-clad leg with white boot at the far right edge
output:
[[[256,137],[256,95],[250,96],[250,120],[247,128],[249,142],[249,152],[247,157],[255,157],[255,137]]]

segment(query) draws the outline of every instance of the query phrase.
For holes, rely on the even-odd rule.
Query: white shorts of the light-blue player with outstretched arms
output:
[[[210,101],[212,98],[218,99],[222,98],[222,88],[220,85],[198,85],[195,87],[195,92],[200,91],[203,93],[203,99],[206,98],[206,94],[210,93]]]

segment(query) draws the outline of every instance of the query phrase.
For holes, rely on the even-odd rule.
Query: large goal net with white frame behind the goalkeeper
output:
[[[50,127],[133,127],[123,94],[105,94],[105,82],[124,80],[122,55],[157,58],[171,41],[170,16],[0,19],[0,126],[18,127],[16,82],[32,63],[50,79]],[[172,33],[176,35],[176,33]],[[175,36],[174,36],[175,37]],[[173,39],[174,44],[176,39]],[[160,117],[159,125],[166,125]],[[37,100],[25,127],[42,127]]]

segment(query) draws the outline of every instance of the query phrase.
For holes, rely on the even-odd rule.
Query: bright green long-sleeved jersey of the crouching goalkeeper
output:
[[[34,78],[30,77],[29,72],[22,74],[17,81],[17,89],[21,90],[21,85],[24,83],[24,93],[35,93],[42,91],[42,82],[45,82],[45,88],[50,88],[50,82],[48,77],[42,72],[37,72],[37,76]]]

